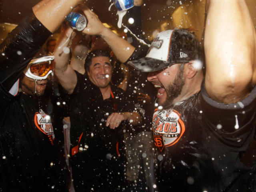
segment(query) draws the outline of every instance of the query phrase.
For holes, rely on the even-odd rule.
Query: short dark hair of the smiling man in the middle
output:
[[[88,72],[90,70],[90,65],[92,64],[92,58],[94,57],[108,57],[110,60],[110,64],[113,67],[113,59],[110,56],[110,53],[106,50],[93,50],[90,53],[87,54],[85,62],[84,62],[84,68]]]

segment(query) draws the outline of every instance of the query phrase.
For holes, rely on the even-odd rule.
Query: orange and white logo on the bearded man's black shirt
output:
[[[152,122],[155,146],[160,151],[176,144],[185,132],[185,125],[176,110],[157,110]]]

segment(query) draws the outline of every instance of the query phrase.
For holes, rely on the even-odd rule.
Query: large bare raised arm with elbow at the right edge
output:
[[[255,29],[245,0],[208,0],[205,86],[219,102],[242,100],[256,82]]]

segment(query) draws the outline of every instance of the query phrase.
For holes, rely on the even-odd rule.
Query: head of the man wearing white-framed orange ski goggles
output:
[[[22,91],[24,94],[41,96],[44,94],[50,74],[53,76],[54,56],[35,58],[30,61],[24,71]]]

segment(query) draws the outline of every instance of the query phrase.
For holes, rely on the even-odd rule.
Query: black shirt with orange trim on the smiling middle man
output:
[[[132,112],[134,104],[125,92],[111,85],[110,98],[103,100],[100,88],[88,76],[76,72],[77,84],[70,95],[70,140],[72,177],[76,191],[115,191],[124,174],[123,131],[106,127],[112,112]],[[120,190],[120,189],[119,189]]]

